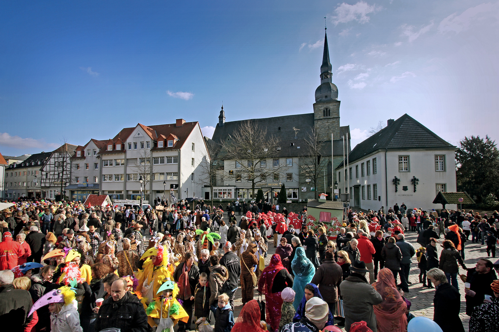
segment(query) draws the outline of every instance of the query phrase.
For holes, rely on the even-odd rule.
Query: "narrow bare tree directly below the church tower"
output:
[[[325,142],[319,140],[319,136],[315,127],[312,127],[312,130],[308,133],[305,138],[306,146],[306,155],[300,157],[300,179],[310,179],[311,183],[313,183],[315,188],[314,197],[318,198],[318,190],[317,187],[324,180],[324,176],[328,172],[328,163],[330,162],[329,158],[322,158],[323,154],[326,154],[327,151],[324,148]],[[330,152],[330,151],[329,151]],[[306,183],[300,181],[300,183]],[[326,191],[327,188],[324,188]]]

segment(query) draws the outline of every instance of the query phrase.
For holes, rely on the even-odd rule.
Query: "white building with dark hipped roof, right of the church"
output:
[[[350,193],[351,206],[365,210],[396,203],[441,209],[433,199],[438,192],[456,191],[456,149],[404,114],[357,144],[348,155],[348,165],[345,159],[336,167],[338,188]]]

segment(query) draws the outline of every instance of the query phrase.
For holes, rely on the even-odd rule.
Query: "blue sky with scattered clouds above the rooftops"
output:
[[[182,2],[182,3],[179,3]],[[0,1],[0,152],[312,111],[324,19],[352,145],[408,113],[498,138],[499,2]]]

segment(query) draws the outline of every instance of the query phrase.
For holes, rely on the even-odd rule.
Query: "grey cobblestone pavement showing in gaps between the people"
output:
[[[442,236],[443,237],[443,236]],[[407,232],[406,233],[406,240],[411,242],[411,244],[414,246],[414,248],[417,250],[420,245],[419,243],[416,242],[417,238],[417,233],[416,232]],[[470,235],[471,238],[471,235]],[[438,247],[438,253],[440,257],[440,252],[441,252],[441,247],[439,244],[437,244]],[[487,258],[487,252],[485,251],[486,246],[482,246],[479,243],[472,243],[471,240],[466,242],[465,245],[465,263],[466,265],[471,268],[474,267],[477,260],[479,258],[485,257]],[[275,253],[275,248],[272,245],[272,242],[269,242],[269,248],[268,248],[268,253],[267,257],[265,258],[265,265],[268,265],[270,261],[270,257],[272,254]],[[496,259],[491,260],[494,262]],[[463,269],[460,267],[460,274],[463,274],[466,272],[463,271]],[[414,316],[425,316],[428,317],[429,319],[433,320],[433,296],[435,294],[435,289],[430,289],[430,288],[423,288],[423,285],[419,283],[419,268],[418,268],[418,262],[416,260],[416,255],[414,255],[411,263],[411,273],[409,275],[409,281],[411,281],[413,284],[410,285],[409,287],[409,293],[406,293],[404,296],[411,301],[411,313]],[[458,282],[459,282],[459,292],[461,293],[461,312],[460,312],[460,317],[461,321],[463,322],[463,326],[465,327],[465,330],[468,331],[468,322],[470,320],[469,316],[465,314],[466,312],[466,302],[465,302],[465,293],[464,293],[464,283],[461,281],[461,279],[458,277]],[[258,292],[255,288],[254,290],[254,299],[256,299],[258,296]],[[243,304],[241,302],[241,288],[238,289],[236,293],[236,301],[235,301],[235,308],[234,308],[234,317],[237,318],[239,316],[239,313],[241,312],[241,309],[243,307]]]

